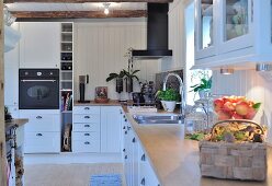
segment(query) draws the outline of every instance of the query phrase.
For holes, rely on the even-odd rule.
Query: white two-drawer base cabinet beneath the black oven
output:
[[[24,153],[60,152],[60,116],[58,109],[21,109],[24,126]]]

